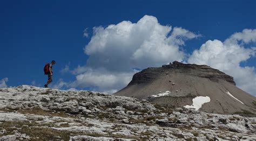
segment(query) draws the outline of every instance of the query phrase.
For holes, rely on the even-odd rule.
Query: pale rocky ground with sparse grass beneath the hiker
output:
[[[91,91],[0,89],[0,140],[256,140],[256,117]]]

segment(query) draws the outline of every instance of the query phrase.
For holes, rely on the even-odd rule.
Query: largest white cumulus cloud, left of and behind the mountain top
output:
[[[137,23],[123,21],[107,27],[93,27],[93,36],[84,48],[86,66],[72,71],[72,87],[93,87],[113,93],[125,87],[136,69],[183,61],[180,50],[185,41],[200,37],[181,27],[161,25],[156,17],[145,15]]]

